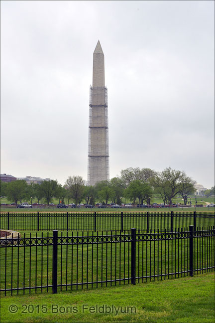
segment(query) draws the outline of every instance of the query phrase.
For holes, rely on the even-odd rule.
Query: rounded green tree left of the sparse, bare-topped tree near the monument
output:
[[[52,198],[58,196],[60,186],[58,185],[57,180],[43,180],[42,183],[38,186],[40,196],[44,197],[48,206]]]

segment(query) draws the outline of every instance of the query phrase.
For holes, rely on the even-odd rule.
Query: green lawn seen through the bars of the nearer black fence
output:
[[[120,236],[116,232],[103,233],[105,239],[110,238],[110,235],[115,240]],[[98,237],[100,234],[98,232],[62,232],[58,236]],[[52,237],[52,232],[21,234],[21,238],[29,237]],[[100,237],[97,241],[101,239]],[[213,237],[194,239],[194,270],[215,266],[214,249]],[[58,284],[61,285],[58,287],[58,292],[71,289],[95,289],[101,285],[104,288],[111,285],[127,285],[130,283],[130,261],[131,242],[125,242],[125,240],[121,243],[82,244],[80,242],[79,245],[58,245]],[[185,277],[189,275],[188,267],[189,239],[157,240],[156,238],[155,241],[136,242],[136,277],[141,277],[136,280],[137,282]],[[209,269],[204,269],[196,273],[208,271]],[[63,286],[64,284],[73,284],[73,286],[66,287]],[[0,289],[47,286],[47,288],[31,290],[32,294],[40,294],[51,293],[52,289],[48,288],[50,285],[52,285],[51,245],[43,245],[40,240],[40,245],[30,248],[28,246],[1,248]],[[16,293],[13,291],[13,295]],[[29,289],[25,293],[28,294]],[[10,294],[10,291],[6,293],[6,295]],[[19,295],[22,294],[23,290],[20,290]]]

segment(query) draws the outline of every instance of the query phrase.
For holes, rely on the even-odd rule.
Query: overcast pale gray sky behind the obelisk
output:
[[[1,173],[87,179],[100,39],[110,178],[185,170],[214,185],[214,1],[1,1]]]

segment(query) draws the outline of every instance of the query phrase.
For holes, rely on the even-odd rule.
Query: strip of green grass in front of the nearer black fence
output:
[[[212,323],[215,321],[214,290],[214,273],[207,273],[192,278],[155,281],[135,286],[112,286],[89,291],[62,292],[55,295],[33,294],[5,297],[1,298],[0,321],[2,323]],[[9,312],[11,305],[17,306],[15,314]],[[90,313],[90,307],[96,308],[97,305],[107,305],[110,308],[113,305],[116,310],[119,309],[119,312],[121,312],[120,307],[123,311],[126,307],[128,313],[118,312],[116,314],[116,310],[109,314]],[[42,313],[42,306],[44,312],[47,310],[46,313]],[[128,307],[133,307],[133,313]],[[83,311],[85,308],[87,309]],[[61,312],[65,310],[65,312],[60,313],[60,310]],[[93,312],[93,308],[91,311]]]

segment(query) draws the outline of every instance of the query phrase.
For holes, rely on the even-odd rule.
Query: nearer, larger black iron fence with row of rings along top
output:
[[[57,293],[193,276],[215,269],[215,227],[0,240],[0,292]]]

